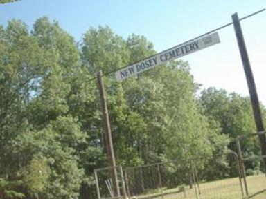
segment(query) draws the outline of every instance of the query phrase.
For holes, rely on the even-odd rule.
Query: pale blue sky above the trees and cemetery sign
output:
[[[266,8],[265,0],[21,0],[0,4],[0,24],[21,19],[29,28],[42,16],[56,20],[76,41],[91,27],[109,26],[124,39],[144,35],[157,52]],[[258,97],[266,105],[266,11],[241,21]],[[221,43],[181,59],[195,82],[249,95],[233,26],[219,30]]]

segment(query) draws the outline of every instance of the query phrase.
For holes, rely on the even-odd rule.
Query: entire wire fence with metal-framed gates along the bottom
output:
[[[265,132],[260,132],[265,133]],[[266,198],[266,177],[260,155],[258,134],[236,138],[236,149],[212,156],[158,162],[138,167],[115,169],[118,175],[119,196],[114,197],[112,168],[94,171],[98,199],[107,198],[195,198],[240,199]],[[241,149],[254,146],[258,149]],[[245,147],[243,147],[245,148]],[[250,153],[249,151],[253,151]],[[257,154],[254,151],[258,151]]]

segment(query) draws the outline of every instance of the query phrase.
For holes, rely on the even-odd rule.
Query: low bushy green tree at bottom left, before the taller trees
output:
[[[17,136],[10,146],[10,167],[17,178],[25,180],[32,196],[38,193],[39,198],[78,198],[83,169],[78,167],[76,146],[85,138],[76,120],[57,117],[42,130]],[[39,164],[43,176],[35,178]]]

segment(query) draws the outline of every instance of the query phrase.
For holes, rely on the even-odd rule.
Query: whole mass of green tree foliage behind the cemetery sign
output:
[[[0,198],[96,198],[93,171],[107,166],[98,70],[108,73],[114,151],[125,167],[213,155],[253,131],[249,100],[215,88],[198,99],[187,62],[124,82],[109,73],[154,53],[145,37],[109,27],[90,28],[78,44],[47,17],[31,32],[19,20],[0,26]],[[258,151],[254,142],[245,149]]]

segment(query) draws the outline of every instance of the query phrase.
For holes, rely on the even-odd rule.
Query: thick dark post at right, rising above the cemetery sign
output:
[[[243,64],[244,70],[245,70],[245,75],[246,75],[246,79],[247,79],[247,86],[249,87],[249,95],[251,98],[251,104],[252,104],[252,109],[253,109],[254,120],[256,123],[256,129],[257,129],[257,132],[264,131],[263,117],[261,116],[261,111],[260,111],[260,102],[258,101],[258,94],[256,91],[256,85],[254,82],[253,73],[251,70],[250,63],[249,63],[249,56],[247,55],[247,48],[245,46],[245,41],[244,41],[244,37],[242,34],[240,21],[238,18],[238,13],[235,13],[232,15],[232,20],[233,20],[233,27],[235,28],[235,32],[236,32],[236,39],[238,40],[238,48],[240,50],[242,64]],[[258,134],[258,138],[260,140],[261,153],[262,153],[262,155],[266,155],[265,134],[264,133]],[[264,162],[264,166],[265,166],[266,165],[266,158],[263,158],[263,162]]]

